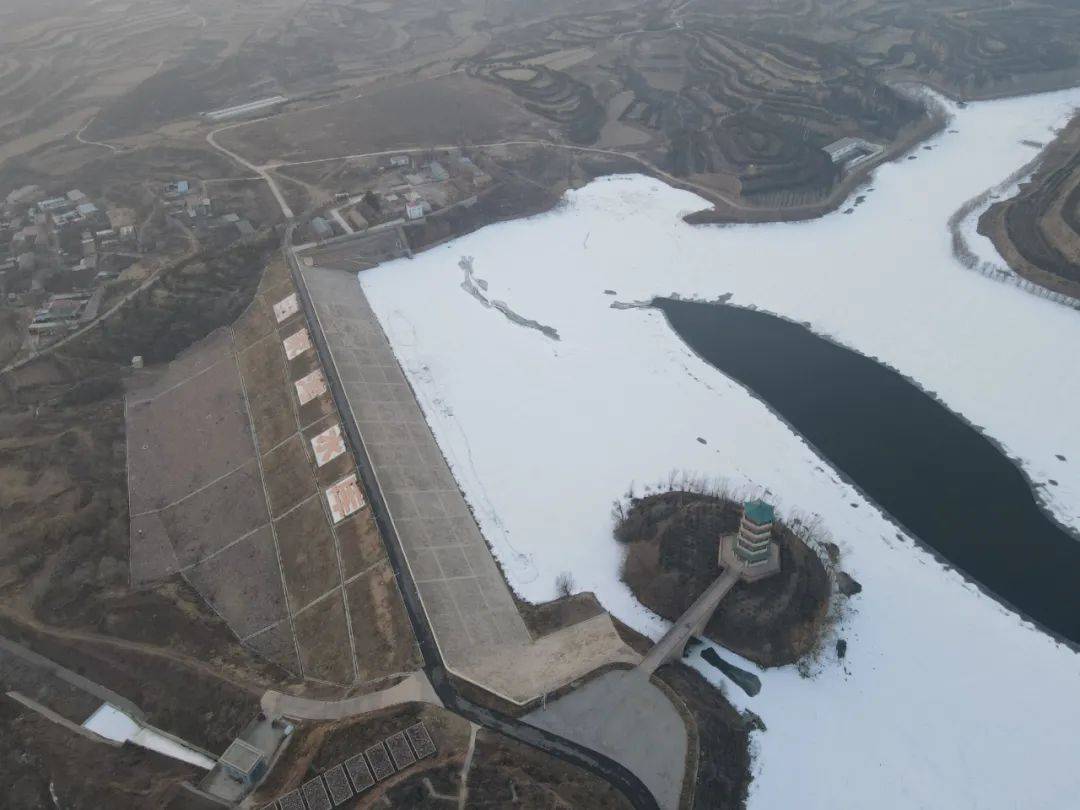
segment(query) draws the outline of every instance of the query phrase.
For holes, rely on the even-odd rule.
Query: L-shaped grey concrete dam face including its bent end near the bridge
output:
[[[636,664],[607,613],[532,638],[355,275],[301,271],[447,670],[526,704]]]

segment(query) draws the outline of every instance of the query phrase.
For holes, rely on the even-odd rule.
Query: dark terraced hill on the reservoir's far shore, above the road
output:
[[[820,200],[839,178],[823,146],[847,135],[891,143],[922,119],[842,50],[679,13],[557,18],[490,46],[469,72],[572,143],[636,146],[759,205]]]

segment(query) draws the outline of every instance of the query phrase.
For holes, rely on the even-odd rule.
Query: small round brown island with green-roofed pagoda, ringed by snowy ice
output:
[[[627,546],[623,581],[670,621],[740,567],[704,635],[762,666],[799,661],[824,635],[829,573],[764,501],[679,490],[633,498],[617,508],[615,536]]]

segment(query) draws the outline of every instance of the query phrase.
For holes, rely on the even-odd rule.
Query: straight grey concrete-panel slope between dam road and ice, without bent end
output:
[[[447,664],[465,670],[481,648],[528,645],[510,590],[355,276],[305,270],[305,278]]]

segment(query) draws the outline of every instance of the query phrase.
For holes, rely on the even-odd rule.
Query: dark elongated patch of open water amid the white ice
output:
[[[699,356],[768,403],[907,531],[1080,642],[1080,541],[986,436],[902,375],[799,324],[729,306],[656,306]]]

